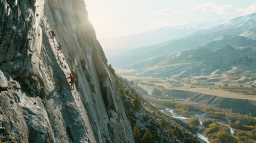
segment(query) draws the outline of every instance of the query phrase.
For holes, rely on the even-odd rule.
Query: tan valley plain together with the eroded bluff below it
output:
[[[196,80],[169,80],[156,77],[124,76],[135,85],[146,90],[141,95],[202,106],[233,108],[233,111],[256,114],[256,88],[249,85],[222,82],[198,82]]]

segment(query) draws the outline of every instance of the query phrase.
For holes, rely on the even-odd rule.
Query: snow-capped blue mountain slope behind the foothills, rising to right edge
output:
[[[144,46],[122,53],[119,57],[109,58],[109,63],[114,67],[124,67],[148,58],[172,54],[184,50],[206,47],[214,50],[224,45],[236,48],[242,46],[255,46],[256,14],[249,14],[222,24],[211,29],[199,30],[184,38],[162,42],[156,45]],[[253,24],[254,23],[254,24]]]

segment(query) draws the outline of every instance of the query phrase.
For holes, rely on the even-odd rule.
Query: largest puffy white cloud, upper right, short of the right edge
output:
[[[207,2],[206,4],[195,7],[189,10],[189,13],[194,13],[196,11],[201,11],[203,13],[217,13],[217,14],[232,14],[232,5],[215,5],[212,2]]]

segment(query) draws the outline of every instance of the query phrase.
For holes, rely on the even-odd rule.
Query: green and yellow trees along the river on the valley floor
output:
[[[256,117],[252,117],[251,113],[240,114],[234,113],[232,108],[213,108],[203,107],[198,104],[184,104],[174,100],[159,100],[149,97],[152,105],[156,108],[174,108],[175,113],[181,116],[190,117],[191,111],[202,111],[211,119],[222,120],[226,122],[226,126],[214,120],[202,120],[204,128],[199,129],[199,120],[196,117],[191,117],[187,125],[190,130],[196,133],[198,130],[205,132],[210,142],[255,142],[256,141]],[[230,128],[236,129],[236,137],[230,135]]]

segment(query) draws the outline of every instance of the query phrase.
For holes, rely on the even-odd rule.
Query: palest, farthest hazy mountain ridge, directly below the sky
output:
[[[99,41],[104,48],[106,57],[109,58],[141,46],[149,46],[171,39],[182,38],[191,35],[198,30],[208,29],[223,21],[224,20],[214,20],[201,23],[189,23],[183,26],[165,26],[148,32],[117,38],[104,38],[99,39]]]

